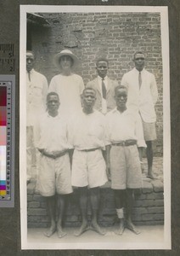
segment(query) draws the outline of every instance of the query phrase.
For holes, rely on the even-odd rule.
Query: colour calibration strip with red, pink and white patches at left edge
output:
[[[0,75],[0,207],[14,207],[14,75]]]

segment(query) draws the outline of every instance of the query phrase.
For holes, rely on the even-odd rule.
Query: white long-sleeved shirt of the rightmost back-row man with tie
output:
[[[138,77],[139,71],[134,67],[121,79],[121,85],[127,86],[127,108],[139,111],[144,122],[153,123],[156,120],[155,103],[158,98],[155,76],[143,69],[140,89]]]

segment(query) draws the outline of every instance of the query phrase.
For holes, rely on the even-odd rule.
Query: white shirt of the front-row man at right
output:
[[[143,138],[143,126],[139,114],[130,110],[123,113],[117,108],[105,116],[106,119],[106,144],[118,143],[127,140],[137,140],[138,147],[146,148]]]

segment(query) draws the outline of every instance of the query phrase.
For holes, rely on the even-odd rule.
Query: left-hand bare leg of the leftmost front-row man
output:
[[[44,236],[52,236],[53,233],[56,230],[56,223],[55,223],[55,196],[48,196],[46,197],[47,199],[47,206],[48,206],[48,212],[50,215],[50,221],[51,221],[51,225],[50,228],[44,232]]]

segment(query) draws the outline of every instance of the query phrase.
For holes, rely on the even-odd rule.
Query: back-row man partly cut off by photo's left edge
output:
[[[26,157],[27,182],[31,180],[33,166],[37,168],[37,152],[34,147],[34,125],[39,116],[45,111],[48,81],[41,73],[34,70],[35,56],[31,51],[26,52]],[[37,172],[37,170],[36,170]]]

